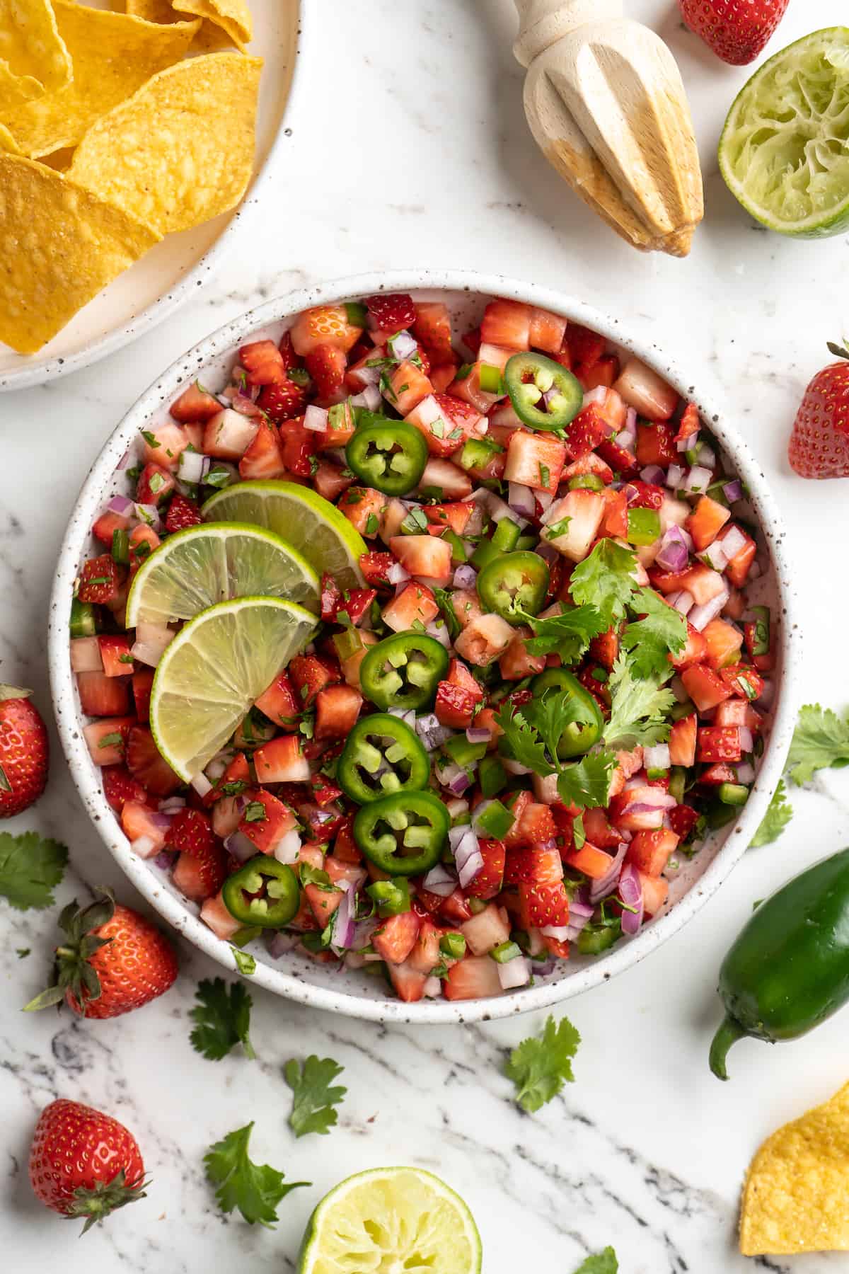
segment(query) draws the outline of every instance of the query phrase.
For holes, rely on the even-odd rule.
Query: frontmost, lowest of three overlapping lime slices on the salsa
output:
[[[150,729],[185,782],[224,747],[314,627],[316,617],[294,601],[237,598],[201,610],[177,633],[153,679]]]

